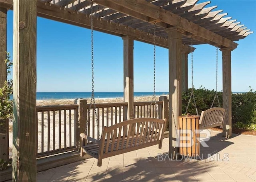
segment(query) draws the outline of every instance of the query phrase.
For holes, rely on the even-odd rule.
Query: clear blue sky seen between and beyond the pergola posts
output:
[[[237,41],[232,51],[232,92],[256,90],[256,1],[213,0],[214,10],[224,10],[254,31]],[[209,6],[209,5],[208,5]],[[206,7],[208,7],[206,6]],[[8,11],[7,51],[12,54],[13,12]],[[90,29],[38,18],[37,91],[90,92]],[[193,54],[194,86],[216,88],[216,48],[196,45]],[[134,41],[134,92],[153,91],[154,46]],[[222,54],[218,51],[218,90],[222,90]],[[191,54],[188,55],[191,87]],[[156,91],[168,92],[168,49],[156,47]],[[121,37],[94,31],[94,91],[123,91],[123,41]]]

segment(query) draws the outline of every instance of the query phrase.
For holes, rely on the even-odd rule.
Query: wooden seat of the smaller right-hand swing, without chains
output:
[[[202,111],[199,120],[200,129],[207,129],[216,126],[223,127],[225,112],[226,110],[224,108],[218,107]]]

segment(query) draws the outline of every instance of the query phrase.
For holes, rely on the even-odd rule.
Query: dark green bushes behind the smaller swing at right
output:
[[[212,106],[215,93],[214,90],[208,90],[202,88],[202,86],[199,89],[194,90],[199,115],[202,111],[207,110]],[[186,112],[190,94],[191,88],[182,93],[182,113]],[[218,92],[218,98],[220,106],[222,107],[222,92]],[[213,107],[218,107],[217,99],[215,99]],[[188,107],[188,113],[193,115],[196,114],[193,99]],[[256,124],[256,92],[253,92],[251,88],[250,91],[246,93],[232,94],[232,123],[237,122],[246,125],[250,125],[251,123]]]

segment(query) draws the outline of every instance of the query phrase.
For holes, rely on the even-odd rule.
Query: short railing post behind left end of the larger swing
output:
[[[75,104],[78,104],[78,121],[76,122],[76,148],[80,149],[80,133],[84,133],[87,121],[87,100],[76,99]],[[90,126],[88,126],[90,127]],[[88,128],[87,128],[88,131]],[[88,133],[87,133],[88,134]]]

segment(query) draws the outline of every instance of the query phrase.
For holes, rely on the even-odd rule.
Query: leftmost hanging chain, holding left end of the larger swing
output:
[[[97,112],[96,112],[96,104],[95,104],[95,98],[94,98],[94,54],[93,54],[93,19],[92,19],[92,14],[93,14],[93,0],[91,0],[91,46],[92,46],[92,97],[91,97],[91,101],[90,101],[90,106],[89,106],[89,111],[88,111],[88,117],[87,117],[87,121],[86,121],[86,131],[85,133],[87,133],[87,127],[88,127],[88,120],[90,119],[90,111],[92,109],[92,104],[93,104],[93,109],[94,109],[94,113],[95,113],[95,118],[96,118],[96,124],[97,124],[97,130],[98,130],[98,139],[100,139],[100,127],[98,125],[98,116],[97,116]],[[94,136],[93,136],[94,137]]]

